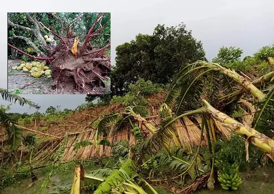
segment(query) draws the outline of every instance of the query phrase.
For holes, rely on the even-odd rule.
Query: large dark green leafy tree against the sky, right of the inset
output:
[[[112,95],[124,95],[139,78],[166,84],[181,67],[196,60],[206,60],[205,52],[184,23],[171,27],[159,24],[153,35],[138,34],[130,43],[116,47]]]

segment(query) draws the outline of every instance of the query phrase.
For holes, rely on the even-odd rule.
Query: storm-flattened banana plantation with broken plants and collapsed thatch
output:
[[[255,189],[256,184],[244,186],[252,172],[273,172],[274,49],[224,60],[222,51],[231,49],[221,48],[212,62],[184,63],[165,84],[139,78],[125,95],[75,110],[51,107],[20,115],[2,107],[0,187],[5,192],[28,180],[21,193]],[[5,101],[40,108],[6,89],[0,92]],[[56,175],[70,177],[67,186],[56,186],[63,180]],[[273,190],[263,191],[256,193]]]

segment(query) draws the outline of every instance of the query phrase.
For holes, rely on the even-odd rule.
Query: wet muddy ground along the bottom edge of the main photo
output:
[[[58,169],[64,169],[66,167],[66,172],[55,172],[50,177],[51,183],[48,184],[46,189],[46,193],[58,193],[65,194],[70,193],[70,188],[73,182],[74,168],[73,166],[62,165],[57,167]],[[84,165],[84,168],[86,165]],[[85,168],[85,171],[96,170],[96,167],[92,169]],[[50,170],[50,169],[49,169]],[[45,172],[45,169],[36,170],[35,174],[38,178],[37,181],[32,182],[31,178],[20,180],[15,184],[6,187],[4,190],[0,190],[0,193],[28,193],[35,194],[41,193],[41,184],[45,180],[48,171]],[[55,169],[56,170],[56,169]],[[44,173],[42,173],[44,171]],[[57,170],[56,170],[57,171]],[[58,170],[59,171],[59,170]],[[215,184],[215,189],[210,191],[208,189],[202,189],[194,192],[193,194],[271,194],[274,193],[274,168],[272,167],[264,167],[257,169],[256,171],[246,171],[240,173],[242,178],[242,185],[235,191],[227,191],[222,189],[218,182]],[[155,187],[156,191],[159,194],[172,194],[172,192],[160,188],[158,186]]]

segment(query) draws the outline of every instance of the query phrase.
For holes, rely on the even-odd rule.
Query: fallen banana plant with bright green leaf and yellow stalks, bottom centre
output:
[[[136,170],[137,168],[131,159],[127,159],[121,163],[119,169],[99,169],[90,174],[85,174],[82,177],[80,175],[81,169],[76,166],[71,194],[79,193],[80,178],[84,181],[84,185],[87,185],[85,188],[96,188],[94,191],[95,194],[110,192],[117,194],[147,194],[143,187],[151,190],[154,194],[157,194],[157,191],[151,185],[136,174]],[[136,182],[138,179],[139,183],[137,184]],[[144,185],[143,187],[139,186],[141,183]]]

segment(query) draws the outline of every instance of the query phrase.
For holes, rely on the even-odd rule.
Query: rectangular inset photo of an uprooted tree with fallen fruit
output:
[[[8,92],[110,93],[110,13],[8,13]]]

